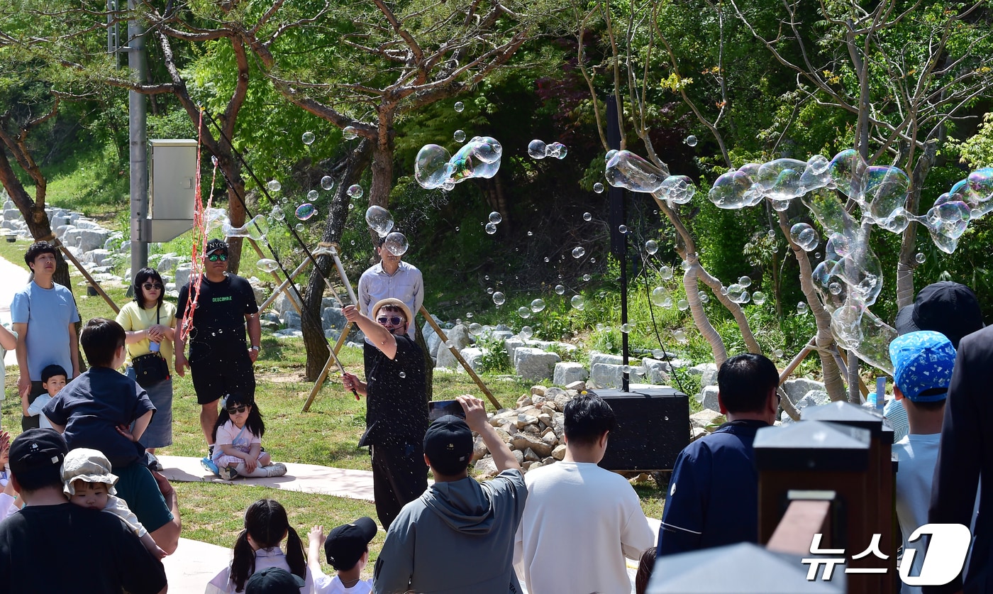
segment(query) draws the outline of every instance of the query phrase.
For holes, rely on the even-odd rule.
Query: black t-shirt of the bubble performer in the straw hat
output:
[[[410,337],[396,337],[396,357],[390,360],[371,349],[367,371],[365,434],[359,446],[387,445],[424,440],[428,430],[427,393],[424,390],[424,356]]]

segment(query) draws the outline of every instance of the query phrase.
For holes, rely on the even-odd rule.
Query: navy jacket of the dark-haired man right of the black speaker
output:
[[[676,458],[658,528],[657,556],[759,541],[755,434],[769,423],[731,421]]]

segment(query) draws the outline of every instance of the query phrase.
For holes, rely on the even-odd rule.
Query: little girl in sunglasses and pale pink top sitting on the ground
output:
[[[265,423],[254,400],[234,392],[220,401],[220,414],[213,425],[213,463],[225,481],[234,477],[281,477],[286,466],[273,464],[262,450]]]

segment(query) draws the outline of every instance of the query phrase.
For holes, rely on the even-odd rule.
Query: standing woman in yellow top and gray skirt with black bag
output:
[[[149,423],[141,442],[146,451],[152,454],[149,466],[162,470],[155,459],[155,449],[173,443],[173,339],[176,332],[176,306],[163,300],[165,283],[155,268],[142,268],[134,275],[134,301],[128,303],[119,314],[117,323],[126,333],[125,344],[132,361],[143,355],[158,352],[165,360],[168,373],[154,383],[142,385],[148,397],[155,404],[155,414]],[[127,375],[135,379],[135,369],[131,365]],[[147,382],[146,382],[147,383]]]

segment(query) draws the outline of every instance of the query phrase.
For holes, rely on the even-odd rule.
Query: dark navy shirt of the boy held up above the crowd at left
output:
[[[110,368],[90,368],[66,384],[43,413],[66,427],[70,448],[99,450],[119,468],[137,460],[144,446],[115,427],[130,425],[149,410],[155,405],[134,379]]]

